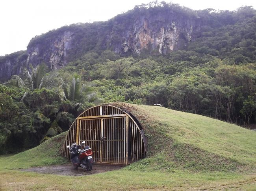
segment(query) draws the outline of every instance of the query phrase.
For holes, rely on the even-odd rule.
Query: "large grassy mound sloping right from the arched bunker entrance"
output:
[[[148,137],[148,157],[128,169],[248,171],[256,167],[256,133],[165,107],[110,103],[132,113]]]

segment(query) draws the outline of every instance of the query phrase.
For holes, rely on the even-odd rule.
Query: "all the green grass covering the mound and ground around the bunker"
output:
[[[141,122],[147,158],[90,176],[17,170],[67,162],[59,155],[62,133],[23,153],[0,156],[0,190],[256,190],[255,132],[164,107],[114,104]]]

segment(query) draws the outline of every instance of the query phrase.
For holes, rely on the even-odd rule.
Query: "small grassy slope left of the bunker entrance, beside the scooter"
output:
[[[61,156],[67,132],[54,136],[33,149],[9,157],[0,157],[0,168],[20,169],[35,166],[63,164],[67,159]],[[1,160],[1,158],[3,160]]]

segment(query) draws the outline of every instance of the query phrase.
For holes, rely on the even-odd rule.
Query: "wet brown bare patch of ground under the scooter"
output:
[[[46,167],[33,167],[30,169],[23,169],[22,171],[27,172],[36,172],[43,174],[52,174],[52,175],[66,175],[66,176],[83,176],[83,175],[93,175],[96,173],[104,173],[108,171],[121,169],[123,166],[111,166],[111,165],[99,165],[94,164],[91,171],[86,171],[85,169],[78,167],[78,169],[73,169],[71,163],[63,165],[54,165]]]

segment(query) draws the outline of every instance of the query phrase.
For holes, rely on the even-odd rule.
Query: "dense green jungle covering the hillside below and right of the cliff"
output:
[[[0,154],[34,147],[67,131],[88,107],[116,101],[162,104],[254,127],[256,10],[197,13],[204,18],[201,34],[180,50],[122,56],[96,47],[62,69],[42,63],[2,83]]]

